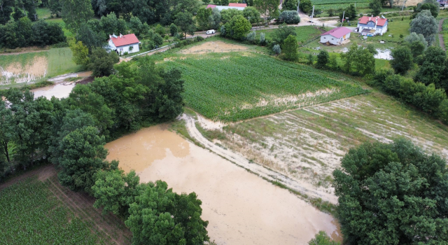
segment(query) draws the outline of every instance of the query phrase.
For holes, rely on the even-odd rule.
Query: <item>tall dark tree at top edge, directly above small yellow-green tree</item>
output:
[[[76,31],[93,17],[90,0],[61,0],[62,20],[68,29]]]

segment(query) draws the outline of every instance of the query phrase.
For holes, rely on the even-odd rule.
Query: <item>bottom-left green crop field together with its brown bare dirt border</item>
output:
[[[0,190],[0,244],[130,244],[123,222],[102,216],[90,197],[60,186],[54,170],[47,177]]]

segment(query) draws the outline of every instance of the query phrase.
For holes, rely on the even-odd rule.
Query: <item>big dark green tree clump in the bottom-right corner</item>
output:
[[[352,148],[333,172],[347,244],[446,244],[448,169],[405,139]]]

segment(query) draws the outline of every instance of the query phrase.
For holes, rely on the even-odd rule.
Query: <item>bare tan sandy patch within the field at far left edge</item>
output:
[[[0,84],[28,83],[31,80],[43,78],[47,72],[48,61],[46,57],[35,57],[26,66],[18,62],[13,62],[7,67],[0,66]]]

